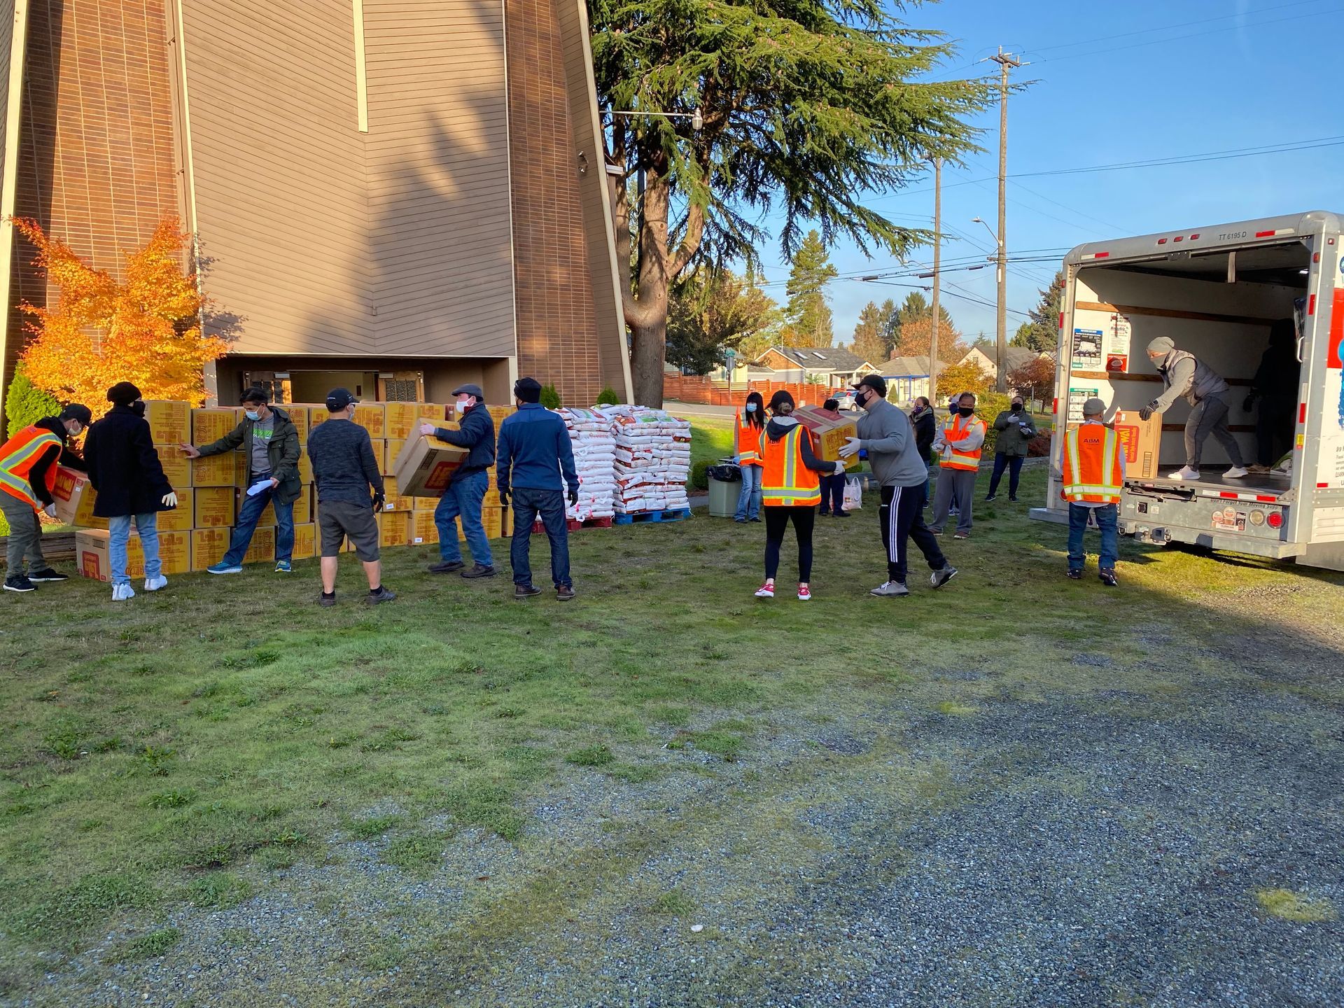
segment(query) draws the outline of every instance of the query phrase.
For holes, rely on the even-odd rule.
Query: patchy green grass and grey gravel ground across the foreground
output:
[[[1341,579],[1126,544],[1107,591],[999,503],[874,599],[866,505],[808,606],[703,512],[571,536],[569,605],[429,548],[376,609],[352,556],[335,609],[316,560],[0,599],[0,1001],[1339,1003]]]

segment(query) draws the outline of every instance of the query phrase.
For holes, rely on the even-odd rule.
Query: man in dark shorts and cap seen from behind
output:
[[[396,593],[383,586],[376,512],[386,492],[368,430],[353,422],[358,399],[344,388],[327,396],[328,417],[308,435],[308,457],[317,485],[319,531],[323,554],[320,605],[336,605],[336,566],[345,536],[355,544],[368,578],[368,605],[391,602]],[[372,488],[372,495],[370,495]]]

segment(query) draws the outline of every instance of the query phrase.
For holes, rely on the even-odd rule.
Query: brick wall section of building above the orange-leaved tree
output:
[[[32,0],[15,215],[35,218],[120,276],[122,250],[179,214],[164,0]],[[5,376],[23,343],[19,301],[47,284],[15,249]],[[54,292],[52,292],[54,293]]]

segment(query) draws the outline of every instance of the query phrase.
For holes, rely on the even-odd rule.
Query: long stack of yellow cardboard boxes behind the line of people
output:
[[[294,501],[296,560],[317,555],[317,495],[313,488],[313,469],[308,460],[308,434],[327,417],[325,405],[282,403],[284,410],[298,429],[298,472],[302,492]],[[374,444],[374,456],[380,468],[387,491],[387,505],[378,516],[379,538],[384,547],[415,543],[437,543],[434,508],[438,497],[402,497],[396,480],[391,476],[402,445],[425,421],[456,427],[446,421],[452,407],[439,403],[359,403],[355,422],[367,427]],[[495,426],[512,407],[491,407]],[[187,403],[155,401],[145,403],[145,419],[159,449],[168,482],[177,492],[177,508],[159,512],[159,552],[163,573],[185,574],[203,571],[223,559],[228,550],[230,531],[247,491],[247,457],[243,450],[227,452],[207,458],[187,458],[179,445],[208,445],[233,430],[242,419],[237,407],[191,409]],[[62,469],[56,487],[58,517],[78,526],[75,552],[79,573],[98,581],[109,581],[108,520],[93,516],[94,492],[82,474]],[[508,535],[508,516],[500,507],[491,469],[491,488],[482,513],[485,534],[492,539]],[[458,524],[458,538],[464,538]],[[347,550],[352,548],[347,543]],[[128,544],[126,573],[132,578],[144,577],[144,552],[136,535]],[[257,523],[251,546],[243,563],[269,563],[276,559],[276,509],[267,504]]]

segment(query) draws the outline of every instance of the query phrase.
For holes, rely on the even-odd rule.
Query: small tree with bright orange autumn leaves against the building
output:
[[[108,388],[133,382],[146,399],[200,406],[203,368],[228,344],[206,336],[206,305],[195,274],[181,269],[187,235],[164,218],[142,247],[125,253],[125,280],[94,269],[35,220],[13,222],[38,247],[34,265],[56,288],[54,308],[22,304],[32,339],[22,360],[34,387],[63,402],[82,402],[98,415]]]

